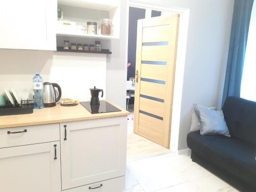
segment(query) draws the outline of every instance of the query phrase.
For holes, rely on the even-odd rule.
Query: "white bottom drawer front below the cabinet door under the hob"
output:
[[[102,182],[97,182],[89,185],[84,185],[62,192],[122,192],[125,189],[125,176],[110,179]]]

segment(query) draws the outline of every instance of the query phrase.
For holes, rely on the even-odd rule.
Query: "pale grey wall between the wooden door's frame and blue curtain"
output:
[[[152,4],[150,0],[136,2]],[[157,5],[189,9],[183,92],[180,98],[178,149],[182,150],[187,148],[191,105],[221,106],[233,0],[159,0]]]

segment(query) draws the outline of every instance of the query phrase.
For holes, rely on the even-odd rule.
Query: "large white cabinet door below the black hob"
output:
[[[126,138],[126,116],[61,123],[62,190],[124,176]]]

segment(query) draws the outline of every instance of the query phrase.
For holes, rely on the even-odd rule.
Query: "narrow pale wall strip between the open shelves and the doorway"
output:
[[[127,0],[121,0],[120,39],[112,40],[112,55],[107,56],[106,63],[106,100],[125,108],[128,47],[128,14]]]

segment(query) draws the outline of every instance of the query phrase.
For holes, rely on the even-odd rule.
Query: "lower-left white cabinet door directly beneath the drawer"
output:
[[[0,148],[0,191],[60,192],[59,148],[59,141]]]

